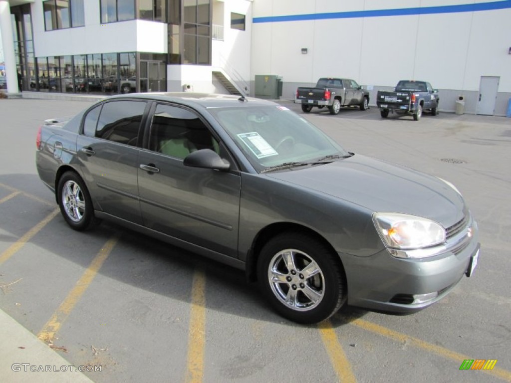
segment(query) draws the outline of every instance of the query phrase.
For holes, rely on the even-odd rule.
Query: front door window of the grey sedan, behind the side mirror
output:
[[[219,153],[218,141],[195,113],[162,104],[156,107],[151,122],[149,148],[180,159],[201,149]]]

